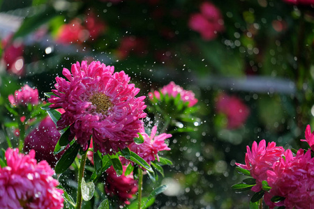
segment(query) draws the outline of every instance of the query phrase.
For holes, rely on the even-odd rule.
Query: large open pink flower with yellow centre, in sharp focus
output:
[[[65,113],[57,122],[58,130],[70,125],[77,143],[84,150],[89,147],[91,136],[94,149],[101,153],[116,153],[137,137],[146,114],[144,96],[135,98],[140,88],[128,84],[130,77],[124,71],[114,72],[114,66],[92,62],[72,65],[71,72],[63,68],[57,77],[57,95],[49,99],[50,107],[62,107]]]

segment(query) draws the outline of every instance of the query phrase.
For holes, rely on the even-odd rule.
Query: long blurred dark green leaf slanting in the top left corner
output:
[[[26,17],[20,28],[14,34],[13,39],[27,36],[29,33],[40,28],[41,25],[45,24],[57,15],[60,15],[60,13],[57,13],[57,11],[51,6],[45,8],[45,10],[42,10],[36,15]]]

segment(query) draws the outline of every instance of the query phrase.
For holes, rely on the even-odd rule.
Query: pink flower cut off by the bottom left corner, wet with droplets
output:
[[[20,154],[6,150],[7,167],[0,167],[1,208],[63,208],[63,191],[57,189],[54,171],[45,161],[37,164],[35,151]]]

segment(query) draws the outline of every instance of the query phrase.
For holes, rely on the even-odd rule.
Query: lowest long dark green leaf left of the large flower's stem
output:
[[[56,167],[54,168],[54,171],[59,174],[63,173],[70,167],[70,165],[75,160],[75,157],[77,156],[78,151],[80,150],[80,144],[77,144],[75,141],[62,155],[60,160],[57,162]]]

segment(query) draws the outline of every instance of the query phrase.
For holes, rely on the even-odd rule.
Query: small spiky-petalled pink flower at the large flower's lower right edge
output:
[[[151,161],[157,160],[159,161],[158,152],[163,150],[170,150],[167,144],[165,144],[165,139],[172,137],[172,134],[159,134],[156,135],[157,126],[154,126],[151,130],[151,136],[145,132],[144,127],[140,131],[144,138],[144,142],[142,144],[136,144],[133,142],[128,146],[131,151],[142,157],[148,164],[151,164]]]

